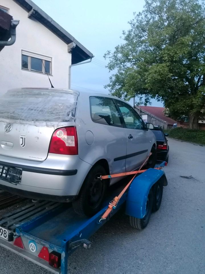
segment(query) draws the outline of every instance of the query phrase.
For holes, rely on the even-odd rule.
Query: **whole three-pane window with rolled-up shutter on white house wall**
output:
[[[42,74],[50,74],[52,68],[52,58],[28,51],[21,52],[21,68],[23,70],[29,70],[32,72],[38,72]]]

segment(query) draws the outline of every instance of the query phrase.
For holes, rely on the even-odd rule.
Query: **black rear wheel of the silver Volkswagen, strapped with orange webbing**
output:
[[[107,180],[97,179],[101,175],[106,175],[103,166],[93,166],[89,171],[77,200],[73,201],[74,211],[78,215],[91,217],[101,209],[108,184]]]

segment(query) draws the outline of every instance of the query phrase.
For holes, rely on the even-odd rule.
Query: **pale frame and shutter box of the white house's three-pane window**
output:
[[[22,55],[25,55],[25,56],[28,57],[28,68],[23,68],[22,67]],[[43,61],[42,71],[31,69],[31,57],[37,58],[37,59],[40,59],[40,60]],[[36,73],[40,73],[40,74],[46,74],[45,61],[50,62],[50,72],[49,73],[47,72],[47,73],[48,73],[48,75],[52,76],[52,57],[48,57],[48,56],[45,56],[45,55],[42,55],[42,54],[33,53],[33,52],[30,52],[30,51],[24,51],[24,50],[21,51],[21,69],[22,70],[26,70],[26,71],[30,71],[30,72],[36,72]]]

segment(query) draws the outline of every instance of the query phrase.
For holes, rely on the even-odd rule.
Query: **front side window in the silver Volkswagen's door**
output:
[[[116,100],[118,107],[124,118],[126,128],[144,129],[144,122],[140,115],[128,104]]]

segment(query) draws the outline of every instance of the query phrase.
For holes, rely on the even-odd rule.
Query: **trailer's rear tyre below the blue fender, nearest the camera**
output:
[[[139,218],[130,216],[130,225],[139,230],[144,229],[149,223],[149,219],[152,211],[152,205],[153,205],[153,192],[152,190],[150,190],[147,197],[146,213],[144,218],[139,219]]]

